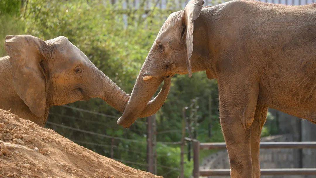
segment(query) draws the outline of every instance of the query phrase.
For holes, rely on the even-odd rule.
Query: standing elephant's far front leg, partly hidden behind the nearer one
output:
[[[251,159],[252,159],[252,178],[260,177],[260,136],[262,127],[267,119],[268,107],[257,106],[255,118],[251,125],[250,144],[251,144]]]

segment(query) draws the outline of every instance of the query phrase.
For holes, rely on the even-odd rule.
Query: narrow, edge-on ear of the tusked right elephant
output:
[[[189,77],[192,76],[191,71],[191,56],[193,51],[193,21],[197,19],[200,15],[201,9],[203,7],[203,0],[191,0],[184,8],[182,14],[182,21],[186,28],[186,53],[187,53],[187,62],[186,66],[188,68]]]

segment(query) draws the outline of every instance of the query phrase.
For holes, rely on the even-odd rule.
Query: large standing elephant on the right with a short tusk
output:
[[[203,3],[168,17],[118,124],[131,126],[163,77],[206,71],[218,80],[231,177],[258,178],[268,107],[316,123],[316,4]]]

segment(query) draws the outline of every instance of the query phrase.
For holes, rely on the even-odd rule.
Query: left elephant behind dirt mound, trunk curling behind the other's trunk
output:
[[[5,37],[0,58],[0,108],[44,126],[49,108],[101,98],[123,112],[130,95],[101,72],[66,37],[43,41],[31,35]],[[170,78],[142,113],[154,114],[166,100]],[[158,97],[159,96],[159,97]]]

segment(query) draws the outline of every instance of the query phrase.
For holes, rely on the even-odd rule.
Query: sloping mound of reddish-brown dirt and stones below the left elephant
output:
[[[0,109],[0,177],[162,178],[101,156]]]

